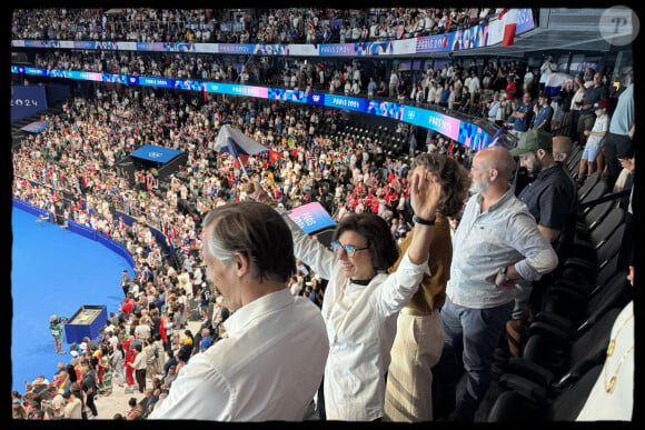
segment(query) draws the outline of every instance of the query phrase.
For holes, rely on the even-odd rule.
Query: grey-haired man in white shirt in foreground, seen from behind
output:
[[[262,204],[231,203],[209,212],[202,237],[207,276],[234,311],[230,336],[190,359],[149,418],[302,419],[328,344],[317,308],[287,288],[296,272],[287,226]]]

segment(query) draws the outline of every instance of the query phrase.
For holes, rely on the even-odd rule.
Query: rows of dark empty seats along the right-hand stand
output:
[[[567,168],[577,174],[582,148]],[[545,282],[542,307],[520,346],[519,357],[498,349],[493,371],[502,390],[489,422],[574,421],[606,359],[618,313],[632,300],[627,280],[624,196],[599,173],[578,189],[577,209],[558,250],[559,264]]]

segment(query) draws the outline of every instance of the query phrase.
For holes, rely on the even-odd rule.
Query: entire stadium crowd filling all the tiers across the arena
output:
[[[322,24],[325,19],[314,23],[308,11],[289,9],[272,11],[274,14],[259,11],[259,18],[249,17],[247,24],[255,32],[247,36],[215,30],[208,36],[204,31],[197,36],[182,26],[197,21],[216,23],[218,18],[206,11],[138,10],[133,13],[127,9],[110,14],[100,10],[44,10],[42,14],[32,17],[33,11],[22,10],[17,11],[13,34],[14,38],[69,39],[71,36],[76,40],[107,40],[102,39],[107,37],[103,29],[110,29],[109,40],[245,42],[242,36],[251,41],[311,40],[314,36],[305,34],[302,30],[311,26],[318,31],[327,24]],[[361,26],[363,31],[367,29],[367,22],[364,19],[354,22],[349,11],[325,12],[321,14],[325,18],[343,17],[348,21],[343,28],[358,28],[360,34],[364,34]],[[428,9],[417,13],[399,13],[397,9],[390,9],[384,11],[378,20],[386,28],[398,26],[403,20],[404,34],[410,37],[445,31],[457,26],[456,22],[477,22],[490,14],[490,11],[479,9],[463,12]],[[448,20],[448,17],[455,20]],[[160,22],[178,20],[180,23],[169,24],[170,31],[159,30],[158,34],[152,28],[133,29],[117,24],[156,19]],[[26,24],[27,21],[31,22]],[[39,28],[40,22],[48,26]],[[69,22],[78,27],[72,28]],[[281,34],[271,33],[271,26],[280,29]],[[355,38],[351,31],[351,39],[346,33],[344,37],[339,34],[339,40],[359,40],[365,37],[360,34]],[[371,40],[371,29],[368,34]],[[325,82],[331,82],[334,91],[339,91],[340,87],[335,82],[340,80],[340,76],[353,76],[355,80],[356,70],[360,73],[358,63],[335,70],[322,67],[324,78],[317,79],[319,69],[316,67],[304,67],[297,60],[290,64],[290,68],[278,68],[280,72],[274,77],[276,82],[284,82],[285,88],[311,88],[314,82],[325,88]],[[56,52],[51,57],[37,58],[36,66],[165,77],[180,77],[181,71],[185,77],[238,79],[237,64],[208,57],[190,62],[183,57],[168,54],[159,58],[122,52],[97,56]],[[249,66],[247,82],[272,83],[260,72],[261,61],[250,61]],[[379,96],[384,98],[436,104],[485,118],[507,127],[518,138],[543,128],[550,133],[570,134],[584,144],[586,139],[583,137],[589,136],[585,131],[598,129],[595,128],[596,120],[583,120],[578,126],[577,117],[593,108],[608,111],[616,102],[607,88],[598,89],[604,84],[603,80],[608,82],[609,78],[593,70],[566,83],[556,96],[555,107],[552,97],[542,92],[544,81],[540,72],[519,71],[515,63],[477,67],[473,61],[466,68],[457,60],[440,70],[428,70],[421,79],[408,83],[404,83],[400,73],[394,71],[393,74],[396,78],[363,74],[359,80],[378,81],[384,91]],[[295,83],[291,76],[296,77]],[[101,231],[122,243],[135,258],[135,277],[130,279],[128,273],[123,273],[120,286],[123,302],[110,313],[99,339],[72,344],[69,364],[61,363],[51,381],[39,376],[23,393],[12,393],[16,419],[96,417],[95,397],[97,393],[110,396],[116,389],[115,383],[125,387],[126,392],[138,390],[145,393],[145,398],[133,401],[129,411],[113,418],[145,419],[159,401],[163,401],[179,370],[191,357],[226,337],[222,322],[229,311],[222,304],[220,293],[215,290],[211,294],[206,282],[201,269],[205,264],[200,257],[200,224],[210,209],[226,202],[248,200],[247,176],[259,181],[278,206],[287,210],[318,201],[336,221],[350,213],[376,213],[387,222],[394,239],[400,244],[413,229],[408,179],[411,157],[421,151],[438,152],[457,159],[467,168],[473,163],[470,151],[441,136],[429,133],[424,144],[417,146],[416,128],[403,122],[395,133],[403,138],[404,153],[409,156],[396,157],[376,139],[336,133],[348,120],[334,110],[252,98],[205,98],[150,88],[103,84],[93,88],[89,98],[77,96],[67,100],[60,114],[43,116],[41,119],[49,128],[24,137],[14,148],[12,193],[34,207]],[[365,89],[369,96],[369,86]],[[589,94],[585,99],[587,91],[594,93],[594,99],[589,99]],[[534,102],[536,99],[537,103]],[[576,103],[576,100],[580,102]],[[583,112],[575,116],[575,110]],[[562,128],[563,123],[567,124],[566,129]],[[249,157],[246,166],[226,153],[214,151],[212,143],[224,124],[238,128],[269,150]],[[185,166],[167,178],[159,178],[156,170],[128,171],[119,163],[147,143],[186,152]],[[604,170],[602,159],[597,168]],[[580,177],[580,184],[584,179]],[[128,226],[115,210],[132,216],[137,221]],[[177,258],[165,251],[166,247],[157,242],[148,226],[163,232],[166,246],[177,250]],[[297,268],[297,274],[289,281],[291,293],[305,296],[321,307],[327,281],[301,261]],[[187,320],[194,312],[201,319],[202,330],[198,333],[186,330]]]

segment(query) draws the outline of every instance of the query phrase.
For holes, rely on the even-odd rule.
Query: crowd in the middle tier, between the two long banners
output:
[[[519,134],[539,126],[546,131],[567,134],[574,141],[586,142],[585,130],[593,123],[585,122],[578,129],[583,110],[588,118],[589,108],[583,109],[583,98],[594,93],[599,99],[616,102],[616,88],[609,84],[613,71],[584,72],[564,79],[559,92],[544,92],[546,79],[556,71],[553,57],[538,68],[520,70],[515,61],[485,61],[460,59],[444,63],[437,70],[428,68],[418,73],[387,71],[385,67],[369,67],[361,60],[345,62],[307,62],[299,59],[249,57],[245,63],[217,56],[180,56],[169,53],[147,54],[139,52],[101,51],[82,53],[46,51],[33,57],[36,67],[47,69],[95,71],[118,74],[141,74],[172,79],[239,82],[275,88],[292,89],[310,93],[312,90],[346,96],[393,100],[400,103],[436,109],[457,118],[473,120],[483,118]],[[528,96],[525,96],[528,93]],[[599,94],[599,98],[598,98]],[[514,114],[514,112],[519,114]],[[518,118],[522,117],[522,118]],[[537,123],[535,123],[538,121]],[[598,170],[604,169],[602,154]]]

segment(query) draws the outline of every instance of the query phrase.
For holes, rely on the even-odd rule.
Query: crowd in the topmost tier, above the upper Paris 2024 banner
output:
[[[344,43],[455,31],[497,17],[488,8],[18,9],[13,39],[195,43]]]

